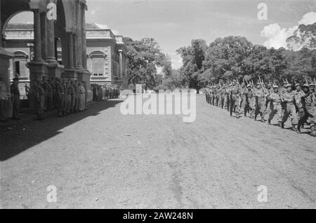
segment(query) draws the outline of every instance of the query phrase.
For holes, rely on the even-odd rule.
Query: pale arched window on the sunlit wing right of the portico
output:
[[[105,58],[107,55],[100,50],[90,53],[91,72],[93,76],[105,76]]]

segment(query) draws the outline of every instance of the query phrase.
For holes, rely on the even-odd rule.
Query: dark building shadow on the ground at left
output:
[[[100,112],[110,107],[115,107],[122,100],[108,100],[93,102],[88,110],[71,114],[63,118],[56,116],[57,112],[51,113],[44,121],[36,121],[32,114],[30,117],[0,126],[0,161],[6,161],[20,154],[34,145],[44,142],[62,132],[60,130],[81,121],[88,116],[98,116]],[[72,139],[75,140],[75,139]]]

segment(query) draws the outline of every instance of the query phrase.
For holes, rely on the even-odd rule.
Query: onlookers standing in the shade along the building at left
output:
[[[19,79],[15,77],[11,84],[8,95],[4,79],[0,77],[0,121],[6,119],[6,101],[11,100],[13,104],[13,119],[20,120],[20,90]],[[119,97],[119,90],[116,87],[92,84],[93,100],[107,100]],[[36,79],[30,88],[25,86],[27,100],[34,104],[38,120],[44,120],[44,112],[57,110],[58,117],[68,116],[73,113],[86,110],[88,90],[84,81],[73,79],[53,78]]]

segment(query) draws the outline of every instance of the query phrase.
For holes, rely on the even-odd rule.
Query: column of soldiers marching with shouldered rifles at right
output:
[[[207,86],[206,102],[227,109],[230,116],[235,113],[237,119],[243,113],[256,121],[259,115],[265,123],[265,114],[270,112],[268,125],[277,119],[281,128],[291,116],[291,130],[301,133],[301,128],[308,124],[310,135],[316,136],[316,81],[314,79],[314,83],[310,84],[307,80],[305,82],[291,85],[283,80],[282,87],[279,87],[275,83],[265,84],[260,78],[256,85],[252,80],[241,84],[232,80],[228,85],[218,83]]]

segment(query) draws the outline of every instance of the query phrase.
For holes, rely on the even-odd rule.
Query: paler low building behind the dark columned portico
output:
[[[34,59],[33,24],[8,24],[4,44],[13,53],[9,74],[13,79],[19,76],[21,83],[29,84],[27,63]],[[62,43],[55,39],[55,60],[62,72]],[[111,29],[100,29],[98,25],[86,25],[86,64],[91,73],[91,83],[115,84],[125,89],[127,86],[127,57],[123,36],[115,36]],[[24,92],[24,84],[20,90]]]

